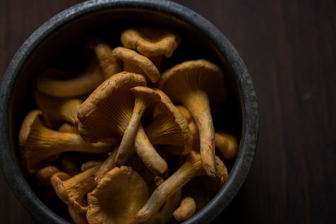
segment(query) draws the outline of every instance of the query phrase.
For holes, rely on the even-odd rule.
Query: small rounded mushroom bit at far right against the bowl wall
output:
[[[225,159],[231,160],[237,156],[239,143],[233,134],[215,132],[215,147],[219,149]]]

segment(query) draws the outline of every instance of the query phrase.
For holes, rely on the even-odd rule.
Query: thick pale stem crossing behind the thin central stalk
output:
[[[134,139],[134,148],[139,158],[149,170],[157,176],[166,175],[168,164],[151,144],[141,123]]]

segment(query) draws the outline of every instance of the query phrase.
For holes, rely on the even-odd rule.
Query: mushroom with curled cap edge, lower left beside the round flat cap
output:
[[[99,166],[92,167],[73,177],[67,173],[56,173],[51,177],[51,183],[60,200],[79,214],[86,213],[85,195],[91,192],[96,183],[91,175],[97,172]]]

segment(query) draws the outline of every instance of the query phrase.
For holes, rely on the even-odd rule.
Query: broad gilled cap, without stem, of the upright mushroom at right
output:
[[[226,97],[222,69],[205,59],[185,61],[169,68],[156,84],[175,104],[185,105],[186,96],[198,92],[205,92],[214,102]]]

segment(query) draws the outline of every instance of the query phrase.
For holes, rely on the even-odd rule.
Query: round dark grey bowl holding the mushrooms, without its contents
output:
[[[183,38],[166,67],[204,58],[222,66],[228,88],[226,114],[214,114],[215,125],[226,125],[238,139],[237,158],[228,165],[229,177],[211,202],[183,223],[210,223],[233,200],[250,170],[256,152],[259,113],[253,83],[234,46],[209,21],[179,4],[163,0],[92,0],[68,8],[36,30],[9,64],[0,89],[1,169],[17,199],[41,223],[69,223],[58,204],[43,201],[30,176],[23,173],[18,153],[18,131],[27,113],[35,109],[32,76],[48,66],[78,65],[83,43],[101,37],[121,46],[119,34],[136,24],[160,25],[179,32]],[[66,53],[65,53],[66,52]],[[223,120],[230,116],[230,122]],[[62,206],[60,206],[62,207]]]

